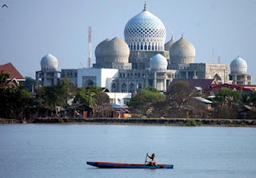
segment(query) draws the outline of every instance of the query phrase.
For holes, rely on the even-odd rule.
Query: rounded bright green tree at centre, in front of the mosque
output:
[[[151,105],[166,100],[166,95],[158,92],[157,89],[148,86],[146,89],[140,89],[137,94],[131,97],[128,105],[134,109],[139,109],[142,114],[146,115],[146,111]]]

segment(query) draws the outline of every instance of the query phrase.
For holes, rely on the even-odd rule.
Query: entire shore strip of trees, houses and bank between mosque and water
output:
[[[106,89],[74,87],[66,78],[58,85],[33,89],[34,79],[9,81],[0,73],[0,123],[85,123],[132,125],[256,124],[256,93],[222,87],[214,93],[178,81],[166,93],[153,87],[134,93],[126,107],[110,103]]]

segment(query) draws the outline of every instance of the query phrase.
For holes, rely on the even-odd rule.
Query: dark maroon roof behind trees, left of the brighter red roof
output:
[[[209,88],[211,85],[214,85],[214,79],[174,79],[170,82],[167,91],[170,90],[170,87],[178,81],[187,81],[190,84],[190,87],[201,87],[202,89]]]

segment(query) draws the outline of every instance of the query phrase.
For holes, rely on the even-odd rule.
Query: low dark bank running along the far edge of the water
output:
[[[33,121],[0,118],[0,124],[87,124],[87,125],[164,125],[164,126],[221,126],[256,127],[256,120],[197,119],[197,118],[82,118],[38,117]]]

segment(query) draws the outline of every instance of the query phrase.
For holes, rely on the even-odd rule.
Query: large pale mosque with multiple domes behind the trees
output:
[[[166,27],[147,10],[126,23],[123,41],[113,38],[100,42],[95,49],[96,63],[90,69],[62,69],[58,71],[56,57],[42,57],[41,71],[36,80],[42,85],[55,85],[58,76],[68,77],[74,85],[98,85],[112,93],[137,93],[153,86],[165,92],[173,79],[216,79],[219,84],[251,85],[246,61],[235,58],[229,65],[195,63],[194,45],[182,37],[166,42]]]

